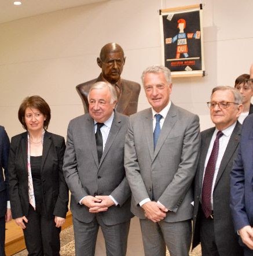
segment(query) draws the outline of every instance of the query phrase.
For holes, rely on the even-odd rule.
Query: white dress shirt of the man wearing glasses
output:
[[[214,179],[212,180],[212,190],[211,190],[211,207],[212,207],[212,210],[214,209],[213,208],[212,193],[214,192],[214,185],[215,185],[215,181],[216,181],[216,178],[217,178],[217,175],[218,175],[219,166],[221,165],[221,160],[222,160],[223,155],[225,153],[226,147],[228,146],[230,136],[232,135],[232,132],[233,132],[235,126],[236,126],[236,122],[234,122],[234,124],[230,125],[230,127],[223,130],[222,131],[223,135],[221,136],[221,138],[219,138],[219,153],[218,153],[217,162],[216,162],[216,165],[215,165]],[[214,140],[216,138],[216,135],[217,135],[218,131],[219,131],[218,129],[215,129],[214,134],[212,135],[212,139],[210,141],[210,145],[208,147],[208,152],[207,152],[206,161],[205,161],[205,165],[204,165],[203,180],[204,180],[204,175],[205,175],[205,172],[206,172],[207,163],[208,163],[208,160],[209,160],[211,152],[212,152],[212,147],[214,146]],[[203,185],[203,180],[202,180],[202,185]]]

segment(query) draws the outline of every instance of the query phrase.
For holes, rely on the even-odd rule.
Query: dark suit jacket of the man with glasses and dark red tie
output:
[[[215,127],[201,132],[201,150],[199,164],[195,178],[195,200],[193,215],[193,248],[200,243],[200,196],[203,181],[204,164],[208,147]],[[237,242],[237,235],[233,229],[232,215],[229,208],[230,199],[230,172],[236,156],[241,136],[241,124],[237,122],[230,136],[228,146],[223,155],[213,192],[214,205],[214,232],[220,255],[239,256],[242,250]]]

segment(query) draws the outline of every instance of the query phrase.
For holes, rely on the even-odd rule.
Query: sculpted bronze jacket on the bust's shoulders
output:
[[[101,81],[104,80],[102,79],[102,75],[100,74],[98,78],[84,82],[83,84],[79,84],[76,86],[76,91],[78,91],[78,94],[82,99],[85,113],[89,111],[89,102],[87,100],[87,95],[90,91],[90,87],[95,82]],[[125,80],[123,78],[121,78],[120,81],[122,84],[122,91],[120,93],[118,103],[116,104],[116,111],[126,116],[130,116],[131,114],[137,112],[138,98],[141,91],[141,85],[137,82]]]

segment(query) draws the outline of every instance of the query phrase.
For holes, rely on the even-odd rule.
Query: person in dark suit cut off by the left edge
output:
[[[5,256],[5,222],[12,219],[8,195],[8,155],[10,140],[0,126],[0,256]],[[4,170],[4,175],[3,175]]]

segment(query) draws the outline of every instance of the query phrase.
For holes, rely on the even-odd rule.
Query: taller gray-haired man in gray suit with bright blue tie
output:
[[[146,256],[189,254],[192,180],[199,156],[199,117],[170,101],[170,70],[142,73],[151,108],[130,116],[125,143],[131,211],[140,218]]]

